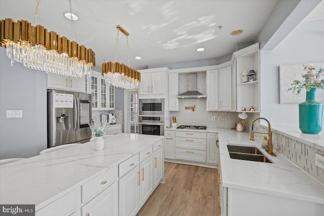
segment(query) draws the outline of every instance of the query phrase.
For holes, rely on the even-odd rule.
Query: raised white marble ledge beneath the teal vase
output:
[[[260,125],[265,126],[263,124]],[[324,131],[321,131],[319,134],[304,134],[300,131],[298,125],[284,124],[271,124],[271,129],[272,131],[285,135],[286,137],[324,151]]]

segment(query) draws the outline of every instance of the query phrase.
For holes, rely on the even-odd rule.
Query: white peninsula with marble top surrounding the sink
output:
[[[267,154],[260,140],[250,141],[250,133],[217,132],[222,215],[323,214],[324,184],[277,151],[276,157]],[[272,163],[232,159],[227,145],[257,147]]]

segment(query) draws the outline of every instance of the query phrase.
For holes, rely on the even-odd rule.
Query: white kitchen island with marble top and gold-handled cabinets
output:
[[[130,209],[136,213],[158,183],[164,181],[164,160],[160,156],[163,155],[163,137],[118,134],[104,136],[104,141],[102,151],[95,151],[91,141],[1,165],[0,203],[35,204],[36,215],[58,208],[67,209],[62,215],[80,215],[81,212],[86,215],[90,211],[100,212],[88,205],[103,190],[113,186],[111,194],[116,200],[111,202],[115,215],[118,204],[119,208],[130,205],[123,203],[128,199],[120,197],[120,191],[118,198],[116,190],[123,188],[119,184],[118,189],[117,183],[134,172],[135,182],[130,178],[125,187],[139,196],[135,197],[134,209]],[[145,180],[142,166],[146,169]],[[143,178],[138,181],[140,175]],[[130,190],[127,193],[132,197]],[[143,194],[139,193],[140,190]],[[55,215],[61,215],[61,211]],[[119,212],[119,215],[123,214]]]

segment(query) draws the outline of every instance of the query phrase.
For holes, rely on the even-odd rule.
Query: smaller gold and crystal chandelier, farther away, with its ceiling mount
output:
[[[141,81],[141,73],[130,67],[129,52],[128,52],[128,66],[117,62],[119,31],[121,31],[126,35],[127,50],[128,50],[129,33],[120,25],[117,25],[116,28],[117,28],[117,41],[116,41],[115,62],[102,63],[101,65],[102,75],[104,76],[106,82],[108,82],[111,85],[114,85],[115,87],[120,87],[127,90],[138,89],[138,84]]]

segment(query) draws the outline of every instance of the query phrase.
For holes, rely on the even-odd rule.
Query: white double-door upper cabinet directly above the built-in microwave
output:
[[[139,83],[139,99],[144,98],[165,98],[168,91],[166,74],[168,68],[152,68],[140,70],[141,81]]]

